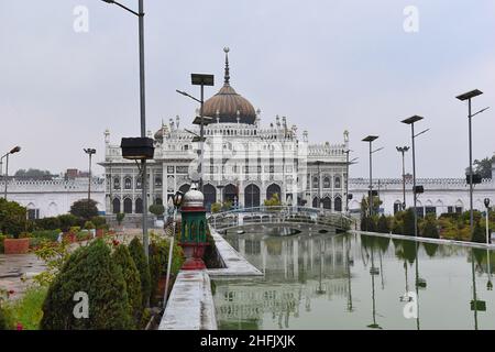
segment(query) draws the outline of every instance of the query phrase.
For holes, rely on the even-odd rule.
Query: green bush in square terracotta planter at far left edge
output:
[[[20,238],[26,228],[26,211],[15,201],[0,199],[0,232],[7,235],[3,240],[6,254],[23,254],[30,249],[30,239]]]

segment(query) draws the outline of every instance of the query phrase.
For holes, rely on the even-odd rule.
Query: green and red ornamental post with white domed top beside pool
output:
[[[207,242],[208,223],[206,219],[205,196],[191,187],[187,191],[180,205],[182,229],[179,245],[184,250],[186,262],[183,270],[206,268],[202,256]]]

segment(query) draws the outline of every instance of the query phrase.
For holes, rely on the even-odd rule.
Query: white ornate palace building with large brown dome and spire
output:
[[[306,205],[334,211],[345,209],[349,133],[338,144],[309,144],[308,132],[285,117],[262,125],[261,110],[231,86],[228,50],[221,89],[204,103],[205,127],[202,180],[205,207],[231,201],[237,207],[257,207],[277,194],[285,205]],[[199,114],[199,112],[196,112]],[[193,121],[194,116],[187,119]],[[183,127],[183,124],[187,124]],[[197,169],[199,134],[179,117],[169,119],[156,133],[154,160],[148,162],[148,204],[167,206],[177,190],[187,191]],[[107,215],[143,211],[141,179],[135,163],[123,160],[119,144],[111,144],[106,131]],[[120,142],[120,138],[118,140]],[[193,176],[194,177],[194,176]]]

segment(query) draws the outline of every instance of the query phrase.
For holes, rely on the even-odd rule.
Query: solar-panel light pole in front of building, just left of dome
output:
[[[191,79],[191,84],[194,86],[200,86],[201,87],[201,96],[200,99],[197,99],[193,96],[190,96],[189,94],[178,90],[176,89],[176,91],[185,97],[188,97],[197,102],[200,103],[200,109],[199,109],[199,117],[197,117],[193,123],[194,124],[199,124],[199,138],[194,139],[193,141],[197,141],[199,142],[199,163],[198,163],[198,174],[199,174],[199,190],[202,193],[202,184],[204,184],[204,179],[202,179],[202,161],[204,161],[204,153],[205,153],[205,125],[212,122],[212,118],[211,117],[205,117],[204,116],[204,105],[205,105],[205,86],[213,86],[215,85],[215,76],[213,75],[207,75],[207,74],[191,74],[190,75],[190,79]]]

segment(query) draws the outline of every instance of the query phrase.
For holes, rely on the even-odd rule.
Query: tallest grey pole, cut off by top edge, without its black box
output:
[[[135,12],[128,7],[113,1],[102,0],[107,3],[117,4],[125,11],[136,15],[139,18],[139,46],[140,46],[140,112],[141,112],[141,138],[146,138],[146,103],[145,103],[145,79],[144,79],[144,3],[143,0],[139,0],[139,12]],[[144,254],[148,257],[150,241],[147,237],[147,193],[146,193],[146,160],[141,160],[142,172],[142,199],[143,199],[143,246]]]

